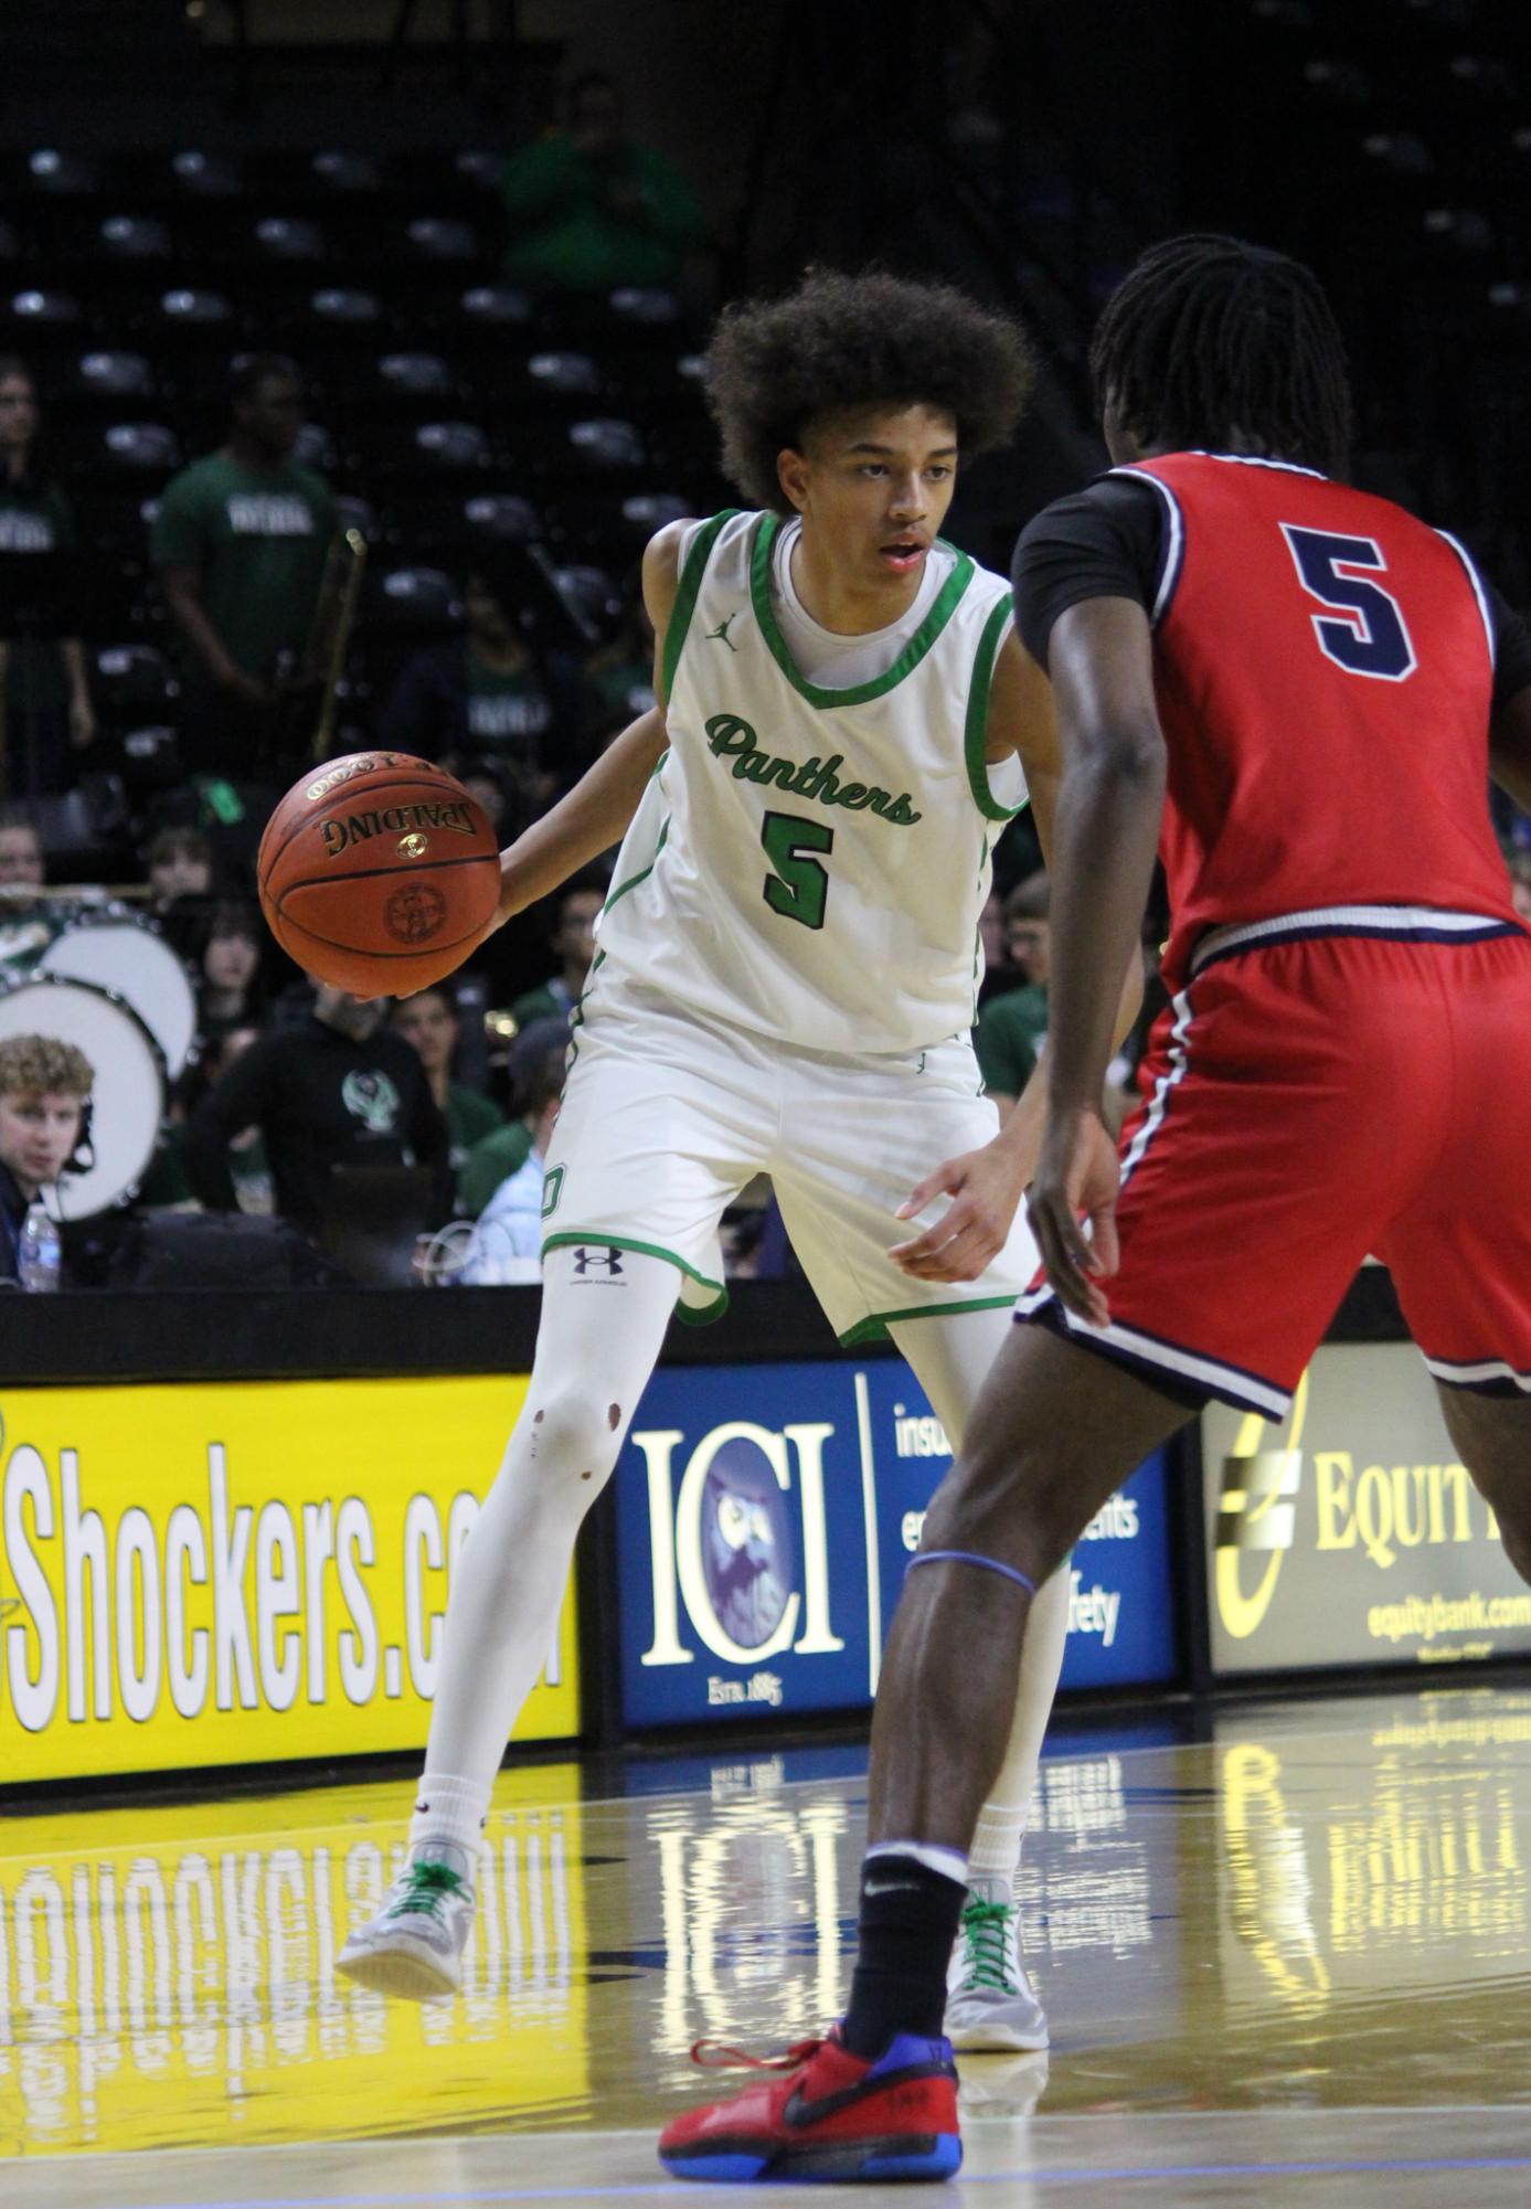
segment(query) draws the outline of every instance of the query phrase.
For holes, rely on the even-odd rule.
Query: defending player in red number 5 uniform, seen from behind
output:
[[[868,2085],[935,2015],[1034,1590],[1208,1396],[1284,1414],[1368,1253],[1531,1579],[1531,939],[1487,817],[1489,773],[1531,808],[1531,638],[1460,546],[1343,484],[1343,347],[1306,269],[1158,247],[1091,364],[1118,466],[1014,574],[1065,744],[1045,1279],[884,1659],[837,2032]],[[1173,1001],[1118,1158],[1100,1100],[1155,850]],[[972,1279],[1014,1171],[1001,1133],[915,1191],[954,1202],[906,1270]],[[745,2114],[751,2156],[791,2134],[756,2096],[707,2136]]]

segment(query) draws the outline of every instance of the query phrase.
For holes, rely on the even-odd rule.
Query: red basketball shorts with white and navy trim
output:
[[[1370,1255],[1438,1381],[1531,1392],[1531,939],[1493,928],[1208,939],[1122,1131],[1109,1325],[1041,1281],[1016,1317],[1281,1418]]]

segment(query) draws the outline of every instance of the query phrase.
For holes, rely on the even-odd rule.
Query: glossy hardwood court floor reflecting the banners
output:
[[[1531,1694],[1480,1688],[1052,1756],[1025,1931],[1054,2048],[963,2063],[939,2198],[1522,2209],[1529,1741]],[[738,2202],[667,2182],[654,2132],[709,2090],[698,2037],[835,2015],[862,1767],[650,1765],[621,1800],[508,1774],[433,2008],[331,1970],[409,1787],[0,1816],[0,2202]]]

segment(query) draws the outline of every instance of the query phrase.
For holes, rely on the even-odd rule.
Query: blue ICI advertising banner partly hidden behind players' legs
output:
[[[627,1725],[857,1710],[950,1447],[910,1370],[654,1374],[616,1469]],[[1065,1688],[1175,1672],[1164,1462],[1067,1566]]]

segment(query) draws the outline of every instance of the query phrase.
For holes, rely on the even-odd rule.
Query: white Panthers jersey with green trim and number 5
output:
[[[596,926],[601,981],[817,1051],[963,1034],[990,846],[1025,804],[983,760],[1001,577],[954,554],[884,676],[820,689],[771,596],[775,515],[691,537],[665,636],[669,751]],[[950,548],[948,548],[950,550]]]

